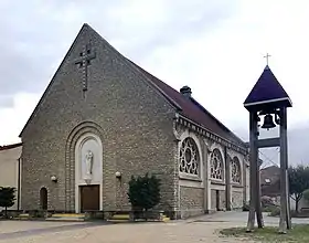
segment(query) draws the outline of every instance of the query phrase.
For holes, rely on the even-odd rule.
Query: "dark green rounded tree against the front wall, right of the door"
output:
[[[160,179],[156,176],[131,177],[128,191],[129,201],[135,209],[148,211],[156,207],[160,200]]]

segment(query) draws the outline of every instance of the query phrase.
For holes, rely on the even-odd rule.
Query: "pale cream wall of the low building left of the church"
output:
[[[19,158],[22,146],[0,150],[0,187],[13,187],[17,189],[15,203],[11,210],[18,209],[18,186],[19,186]],[[2,208],[0,207],[0,211]]]

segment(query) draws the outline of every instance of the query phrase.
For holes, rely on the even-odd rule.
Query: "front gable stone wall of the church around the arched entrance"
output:
[[[96,59],[84,97],[83,70],[75,60],[89,42]],[[130,177],[150,171],[163,181],[162,204],[175,207],[174,109],[130,65],[83,28],[22,131],[23,209],[39,209],[39,191],[45,187],[50,210],[74,210],[74,145],[88,131],[103,142],[104,210],[129,208]],[[120,181],[116,171],[122,173]]]

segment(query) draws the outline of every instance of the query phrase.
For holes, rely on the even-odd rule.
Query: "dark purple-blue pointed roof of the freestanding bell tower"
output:
[[[244,106],[248,110],[260,109],[266,105],[267,107],[273,106],[274,108],[292,106],[288,94],[277,81],[268,65],[266,65],[260,77],[244,102]]]

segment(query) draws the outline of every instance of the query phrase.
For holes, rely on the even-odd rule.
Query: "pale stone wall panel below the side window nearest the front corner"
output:
[[[204,189],[180,187],[181,218],[188,218],[204,213]]]

